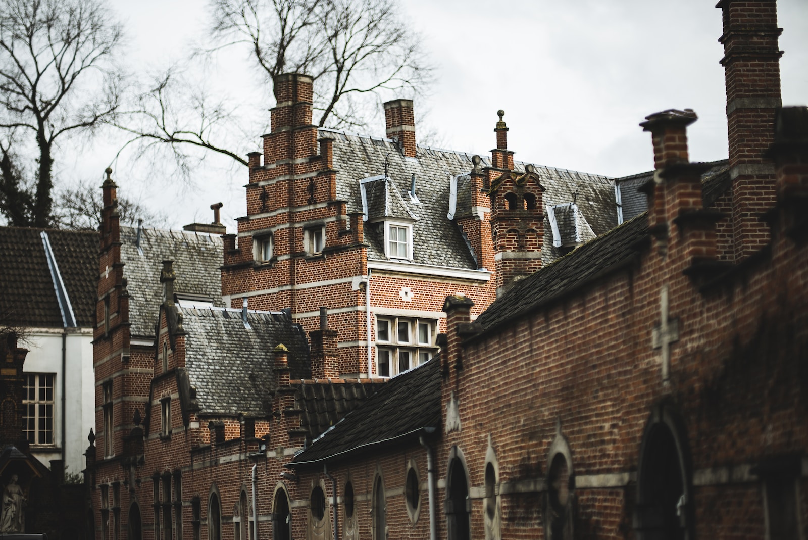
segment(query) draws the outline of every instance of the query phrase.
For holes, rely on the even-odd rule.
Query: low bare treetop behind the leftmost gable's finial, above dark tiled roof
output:
[[[143,220],[153,227],[164,227],[168,218],[163,213],[150,212],[137,200],[118,196],[121,225],[135,226]],[[103,200],[101,189],[93,182],[82,181],[71,188],[56,191],[53,225],[58,229],[98,230],[101,225]]]

